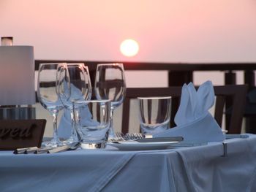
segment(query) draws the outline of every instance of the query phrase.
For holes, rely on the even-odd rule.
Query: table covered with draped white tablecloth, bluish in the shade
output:
[[[0,152],[1,191],[256,191],[256,135],[167,150]]]

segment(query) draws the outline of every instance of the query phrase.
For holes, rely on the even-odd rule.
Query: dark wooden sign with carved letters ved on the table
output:
[[[45,119],[0,120],[0,150],[41,147]]]

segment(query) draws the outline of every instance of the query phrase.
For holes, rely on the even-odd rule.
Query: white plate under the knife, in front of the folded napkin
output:
[[[108,145],[117,147],[119,150],[163,150],[176,142],[109,142]]]

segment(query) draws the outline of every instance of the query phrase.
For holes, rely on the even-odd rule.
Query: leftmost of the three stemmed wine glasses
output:
[[[53,117],[53,139],[51,139],[50,142],[45,143],[45,145],[49,147],[63,145],[58,138],[57,131],[57,116],[59,110],[64,108],[56,93],[58,66],[64,66],[64,63],[40,64],[38,71],[37,98],[40,104],[42,104],[42,107],[48,110]],[[63,70],[65,69],[63,68]]]

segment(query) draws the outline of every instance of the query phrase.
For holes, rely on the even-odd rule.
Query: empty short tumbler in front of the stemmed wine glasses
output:
[[[73,101],[75,127],[84,149],[104,148],[110,128],[110,101]]]

